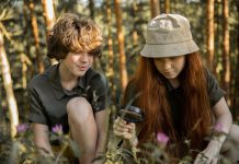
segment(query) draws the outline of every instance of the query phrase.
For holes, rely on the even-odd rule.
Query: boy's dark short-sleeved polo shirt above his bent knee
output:
[[[31,122],[47,125],[49,129],[60,124],[64,131],[68,132],[66,110],[68,101],[77,96],[86,97],[94,113],[103,110],[110,104],[109,85],[103,74],[90,68],[83,77],[79,78],[79,83],[75,89],[65,90],[60,84],[59,65],[50,67],[31,80],[27,87],[29,119]]]

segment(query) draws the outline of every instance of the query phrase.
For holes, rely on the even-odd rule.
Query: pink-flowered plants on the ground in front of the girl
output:
[[[223,132],[223,126],[219,124],[215,125],[212,129],[214,129],[214,134],[216,134],[215,137],[225,134]],[[105,164],[172,164],[172,159],[169,157],[164,149],[170,140],[169,137],[162,132],[158,132],[156,140],[156,143],[149,142],[144,144],[141,148],[132,148],[130,150],[117,147],[116,143],[110,140],[106,154],[100,157],[105,160]],[[190,140],[185,139],[183,142],[187,147],[187,154],[182,159],[173,160],[173,163],[193,164],[194,159],[192,157],[192,154],[193,152],[200,153],[200,151],[191,149]],[[230,140],[230,142],[234,143],[232,140]],[[235,152],[239,152],[239,145],[232,147]],[[223,155],[219,155],[218,159],[220,164],[232,164],[231,159],[227,159]]]

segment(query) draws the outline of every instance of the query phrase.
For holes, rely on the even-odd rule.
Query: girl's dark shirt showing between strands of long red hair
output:
[[[210,107],[213,107],[225,94],[225,91],[223,91],[214,78],[214,75],[206,70],[206,80],[207,80],[207,93],[208,93],[208,98],[209,98],[209,104]],[[166,93],[167,93],[167,99],[169,102],[169,105],[171,107],[172,112],[172,119],[174,127],[179,129],[180,127],[180,120],[182,119],[181,117],[181,107],[183,106],[184,97],[182,96],[183,89],[181,86],[174,89],[169,80],[164,79],[164,84],[166,84]],[[135,99],[136,93],[138,91],[135,91],[135,84],[129,83],[126,87],[126,103],[132,102],[132,99]],[[126,104],[124,104],[126,105]],[[133,102],[133,105],[136,105],[135,102]]]

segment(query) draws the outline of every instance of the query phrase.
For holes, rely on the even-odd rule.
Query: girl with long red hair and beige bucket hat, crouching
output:
[[[140,65],[126,87],[123,103],[135,98],[133,105],[143,109],[145,120],[136,128],[135,124],[117,118],[114,134],[136,147],[149,142],[153,133],[163,132],[170,138],[166,150],[173,157],[185,155],[182,143],[189,139],[191,149],[202,151],[194,156],[194,164],[216,163],[219,151],[228,151],[223,144],[226,133],[239,142],[239,128],[231,125],[224,94],[202,63],[187,19],[178,14],[158,15],[148,23]],[[205,142],[213,124],[220,127],[221,133],[213,131]],[[140,129],[137,137],[136,129]]]

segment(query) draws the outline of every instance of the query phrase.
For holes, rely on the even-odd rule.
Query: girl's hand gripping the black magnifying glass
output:
[[[137,145],[136,127],[134,122],[127,122],[121,117],[113,125],[114,134],[129,141],[130,145]]]

